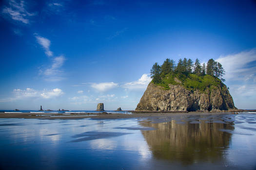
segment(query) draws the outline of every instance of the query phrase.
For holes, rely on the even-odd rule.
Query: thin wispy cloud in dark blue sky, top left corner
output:
[[[26,5],[23,0],[10,0],[8,7],[5,6],[2,10],[2,13],[6,14],[8,17],[11,17],[15,21],[28,24],[29,17],[34,16],[35,14],[27,12],[25,7]]]

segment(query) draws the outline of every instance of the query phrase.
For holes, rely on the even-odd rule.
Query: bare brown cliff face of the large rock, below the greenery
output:
[[[190,91],[182,85],[148,85],[136,111],[219,111],[236,109],[226,85],[212,86],[205,91]]]

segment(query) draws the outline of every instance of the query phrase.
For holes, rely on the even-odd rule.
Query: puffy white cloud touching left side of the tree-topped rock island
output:
[[[123,85],[124,88],[130,89],[130,90],[135,90],[135,89],[146,89],[147,85],[151,82],[151,78],[149,74],[143,74],[138,81],[135,82],[129,82]]]

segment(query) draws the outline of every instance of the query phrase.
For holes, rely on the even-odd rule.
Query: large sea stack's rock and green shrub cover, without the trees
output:
[[[153,68],[152,68],[153,69]],[[216,76],[171,72],[153,81],[136,111],[222,111],[235,110],[227,86]]]

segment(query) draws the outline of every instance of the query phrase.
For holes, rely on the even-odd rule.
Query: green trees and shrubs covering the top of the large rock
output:
[[[225,81],[223,79],[225,70],[220,63],[210,59],[207,67],[205,64],[201,67],[199,60],[196,59],[194,71],[192,71],[192,66],[192,60],[186,58],[179,59],[177,66],[175,66],[175,61],[170,59],[166,59],[162,66],[155,63],[150,70],[152,82],[163,86],[164,89],[169,89],[169,85],[183,85],[188,90],[198,89],[202,92],[206,89],[224,87],[222,82]]]

